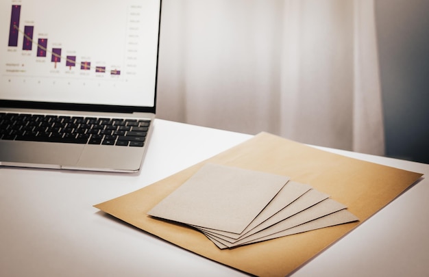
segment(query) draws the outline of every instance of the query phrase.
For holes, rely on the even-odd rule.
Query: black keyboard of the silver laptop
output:
[[[143,147],[150,120],[0,112],[0,140]]]

